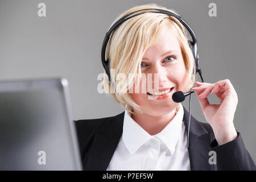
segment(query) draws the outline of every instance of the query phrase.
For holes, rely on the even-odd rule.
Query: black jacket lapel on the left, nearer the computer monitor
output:
[[[105,171],[123,133],[125,111],[109,118],[97,131],[84,170]]]

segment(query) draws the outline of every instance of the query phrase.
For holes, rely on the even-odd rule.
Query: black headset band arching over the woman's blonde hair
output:
[[[138,13],[138,14],[133,15],[134,13],[137,13],[139,11],[145,11],[145,10],[150,10],[150,11],[146,11],[146,12],[143,12],[143,13]],[[189,34],[191,35],[191,38],[192,38],[192,42],[189,40],[188,44],[191,47],[191,50],[192,50],[192,53],[193,53],[193,56],[194,56],[194,59],[195,59],[196,73],[199,73],[202,82],[204,82],[201,69],[199,68],[199,55],[197,53],[197,40],[196,40],[196,36],[195,36],[194,32],[192,31],[191,27],[189,27],[188,23],[185,22],[185,20],[183,20],[181,18],[181,16],[176,15],[176,14],[170,12],[170,11],[167,11],[167,10],[162,10],[162,9],[143,9],[143,10],[138,10],[138,11],[134,11],[132,13],[129,13],[129,14],[123,16],[122,18],[120,18],[117,22],[115,22],[113,24],[113,26],[109,28],[109,31],[106,32],[106,35],[105,35],[105,38],[104,38],[104,41],[103,41],[102,47],[101,47],[101,62],[102,62],[102,65],[103,65],[103,67],[106,71],[106,74],[108,75],[109,82],[111,83],[110,59],[105,60],[105,53],[106,53],[106,46],[109,42],[110,35],[115,30],[115,28],[117,28],[119,26],[119,24],[125,22],[127,19],[133,18],[134,16],[138,16],[138,15],[141,15],[141,14],[144,14],[144,13],[162,13],[162,14],[167,14],[167,15],[170,15],[170,16],[174,16],[177,20],[180,21],[181,24],[183,24],[183,26],[185,28],[187,28],[187,30],[188,30]]]

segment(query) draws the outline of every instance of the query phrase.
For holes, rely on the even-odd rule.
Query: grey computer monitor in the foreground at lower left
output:
[[[0,169],[82,169],[65,78],[0,81]]]

